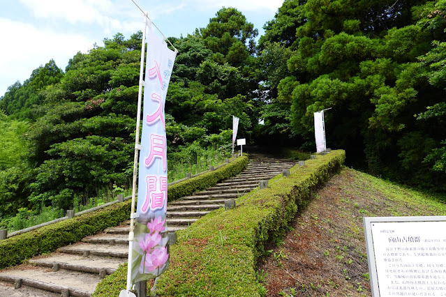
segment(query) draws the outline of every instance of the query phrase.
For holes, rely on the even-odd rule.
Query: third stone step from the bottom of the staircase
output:
[[[66,254],[82,254],[86,257],[91,254],[94,256],[127,258],[128,245],[98,245],[78,242],[74,243],[73,245],[67,245],[66,247],[58,248],[57,252],[64,252]]]

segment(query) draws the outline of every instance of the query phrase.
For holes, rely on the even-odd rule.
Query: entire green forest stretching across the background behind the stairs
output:
[[[168,38],[170,171],[230,154],[232,116],[249,144],[314,151],[313,112],[331,107],[346,165],[446,191],[446,0],[285,0],[264,29],[221,8]],[[0,227],[129,188],[141,43],[117,33],[0,98]]]

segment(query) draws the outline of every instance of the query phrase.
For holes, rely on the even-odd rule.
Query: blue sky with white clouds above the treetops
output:
[[[235,7],[264,33],[283,0],[134,0],[166,37],[203,28],[224,7]],[[144,29],[144,15],[132,0],[0,0],[0,97],[54,59],[65,70],[77,52],[104,38],[129,38]]]

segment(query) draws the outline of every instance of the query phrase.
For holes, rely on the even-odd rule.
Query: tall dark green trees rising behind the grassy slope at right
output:
[[[350,164],[445,190],[445,15],[441,0],[285,0],[260,38],[261,56],[289,56],[288,71],[263,61],[265,132],[313,149],[313,112],[331,107],[327,144]]]

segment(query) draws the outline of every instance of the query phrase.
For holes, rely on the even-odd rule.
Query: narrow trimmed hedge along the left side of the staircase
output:
[[[170,185],[168,199],[175,200],[181,196],[190,195],[195,190],[213,186],[218,181],[235,176],[246,167],[246,164],[248,164],[248,157],[243,155],[213,172]],[[38,254],[54,252],[57,248],[80,241],[85,236],[117,226],[130,218],[130,206],[131,199],[128,199],[98,211],[0,241],[0,269],[21,264],[24,260]]]

